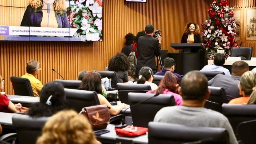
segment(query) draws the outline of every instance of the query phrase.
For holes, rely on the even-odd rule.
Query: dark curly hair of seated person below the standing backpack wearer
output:
[[[129,66],[129,59],[123,53],[116,53],[116,55],[109,60],[109,71],[127,71]]]

